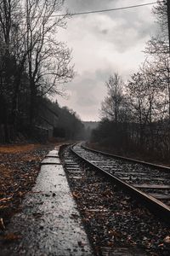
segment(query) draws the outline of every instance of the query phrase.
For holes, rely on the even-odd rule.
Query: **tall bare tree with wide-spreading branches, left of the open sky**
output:
[[[30,122],[35,118],[37,94],[59,93],[59,83],[73,77],[71,51],[58,42],[56,33],[65,27],[65,18],[52,17],[59,13],[62,0],[26,0],[26,47],[31,90]]]

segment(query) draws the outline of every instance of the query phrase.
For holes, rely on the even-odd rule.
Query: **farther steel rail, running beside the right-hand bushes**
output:
[[[142,161],[142,160],[135,160],[133,158],[128,158],[128,157],[117,155],[117,154],[106,153],[104,151],[96,150],[94,148],[89,148],[84,143],[81,144],[81,147],[84,148],[84,149],[87,149],[88,151],[94,152],[94,153],[99,153],[99,154],[103,154],[103,155],[106,155],[106,156],[111,156],[112,158],[116,158],[117,160],[126,160],[128,162],[133,162],[133,163],[140,164],[140,165],[143,165],[143,166],[149,166],[150,168],[154,168],[154,169],[156,168],[156,169],[162,170],[164,172],[169,172],[170,173],[170,167],[167,167],[167,166],[160,166],[160,165],[152,164],[150,162],[146,162],[146,161]]]

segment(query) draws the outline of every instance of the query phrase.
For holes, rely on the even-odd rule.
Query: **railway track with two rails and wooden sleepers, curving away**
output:
[[[104,154],[81,143],[72,146],[71,151],[170,222],[170,169]]]

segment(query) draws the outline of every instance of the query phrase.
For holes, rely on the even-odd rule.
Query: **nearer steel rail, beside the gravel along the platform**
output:
[[[88,163],[89,166],[94,167],[94,169],[99,170],[99,172],[103,173],[105,175],[105,177],[107,177],[107,178],[109,177],[114,183],[116,183],[122,189],[127,190],[131,195],[133,195],[133,197],[135,199],[138,198],[140,200],[139,201],[140,203],[144,203],[144,205],[150,209],[150,212],[154,213],[158,218],[160,218],[161,220],[164,220],[164,221],[166,221],[166,222],[168,222],[170,224],[170,208],[167,207],[166,204],[164,204],[161,201],[157,200],[153,196],[147,195],[143,191],[134,188],[132,185],[122,181],[120,178],[115,177],[114,175],[112,175],[109,172],[106,172],[101,167],[96,166],[90,160],[85,159],[84,157],[82,157],[81,154],[78,154],[74,150],[74,146],[75,145],[76,144],[71,146],[71,152],[73,154],[77,155],[77,157],[79,159],[85,161],[86,163]]]

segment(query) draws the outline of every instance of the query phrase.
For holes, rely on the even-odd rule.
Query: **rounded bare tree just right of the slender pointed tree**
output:
[[[153,124],[161,119],[163,113],[162,87],[159,73],[153,65],[145,61],[138,73],[134,73],[127,83],[127,96],[131,103],[133,121],[139,124],[139,142],[143,146],[146,134],[150,131],[153,143]]]

